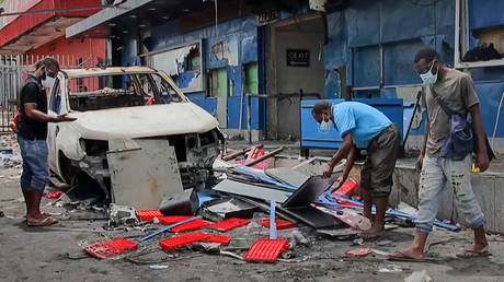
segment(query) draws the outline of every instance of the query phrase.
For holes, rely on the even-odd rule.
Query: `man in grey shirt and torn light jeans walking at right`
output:
[[[481,119],[479,99],[474,92],[472,79],[463,72],[449,69],[439,61],[439,55],[432,48],[421,49],[414,59],[414,67],[424,82],[422,107],[427,110],[424,146],[416,163],[422,169],[419,189],[419,215],[415,220],[416,234],[413,245],[391,255],[392,259],[423,260],[427,235],[433,230],[443,189],[454,189],[457,205],[463,213],[466,222],[474,231],[474,243],[457,257],[469,258],[488,256],[489,243],[484,234],[484,214],[481,211],[471,187],[470,169],[472,155],[461,161],[440,157],[440,149],[449,132],[449,116],[433,97],[433,91],[442,96],[451,110],[462,115],[471,114],[473,131],[479,140],[476,165],[484,172],[489,167],[489,157],[484,143],[484,129]]]

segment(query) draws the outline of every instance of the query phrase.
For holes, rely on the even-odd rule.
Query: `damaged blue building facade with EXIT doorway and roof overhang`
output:
[[[462,61],[480,43],[504,52],[499,0],[123,1],[67,28],[67,38],[106,38],[116,66],[167,71],[229,132],[299,138],[299,101],[402,98],[421,80],[415,52],[431,46],[471,73],[494,148],[504,151],[504,59]],[[249,93],[266,97],[247,98]],[[412,125],[417,146],[425,114]]]

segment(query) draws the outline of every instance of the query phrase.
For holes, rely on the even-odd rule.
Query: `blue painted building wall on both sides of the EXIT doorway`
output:
[[[429,2],[429,1],[427,1]],[[502,0],[469,0],[470,30],[504,25]],[[328,12],[328,44],[324,46],[324,64],[328,71],[325,92],[336,93],[328,98],[339,97],[340,74],[335,70],[347,66],[346,84],[352,87],[376,87],[371,91],[356,91],[355,97],[396,97],[392,90],[379,86],[400,86],[420,84],[421,80],[413,69],[413,57],[425,46],[435,48],[443,62],[454,66],[455,44],[455,0],[432,1],[426,4],[403,0],[360,0],[337,12]],[[289,19],[310,12],[307,4],[290,11],[282,11],[280,19]],[[215,27],[208,26],[183,34],[179,23],[170,22],[152,28],[149,49],[159,50],[183,43],[203,39],[205,69],[227,68],[228,79],[232,81],[232,97],[229,98],[229,127],[237,128],[241,95],[241,63],[259,62],[260,92],[264,91],[265,56],[264,27],[256,26],[255,16],[243,16],[219,23],[219,36]],[[228,40],[237,44],[238,64],[217,60],[211,46]],[[470,45],[476,46],[474,38]],[[383,51],[383,78],[380,85],[380,46]],[[125,44],[123,64],[138,64],[136,44]],[[493,132],[499,102],[504,90],[504,67],[471,69],[474,86],[481,107],[484,107],[483,122],[486,133]],[[215,99],[205,98],[204,93],[188,95],[196,104],[214,113]],[[247,101],[247,99],[244,99]],[[253,128],[265,128],[264,103],[253,103]],[[245,105],[242,105],[245,110]],[[244,111],[243,110],[243,111]],[[243,124],[245,126],[243,115]],[[501,109],[497,137],[504,137],[504,109]],[[424,118],[425,120],[425,118]],[[412,134],[422,134],[423,125]]]

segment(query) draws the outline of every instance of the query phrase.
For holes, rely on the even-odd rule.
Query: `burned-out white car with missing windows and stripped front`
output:
[[[184,189],[204,186],[224,143],[217,120],[151,68],[64,70],[48,102],[49,114],[77,118],[49,124],[50,171],[69,185],[98,184],[107,198],[111,140],[168,140]]]

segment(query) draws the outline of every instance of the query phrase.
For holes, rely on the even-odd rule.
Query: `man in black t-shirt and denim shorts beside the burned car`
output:
[[[35,72],[30,74],[20,93],[20,124],[18,142],[23,157],[21,190],[26,203],[28,226],[44,226],[57,223],[48,214],[41,212],[41,199],[48,181],[47,122],[73,121],[75,118],[47,115],[47,96],[42,82],[47,77],[56,77],[58,61],[46,58],[35,63]]]

